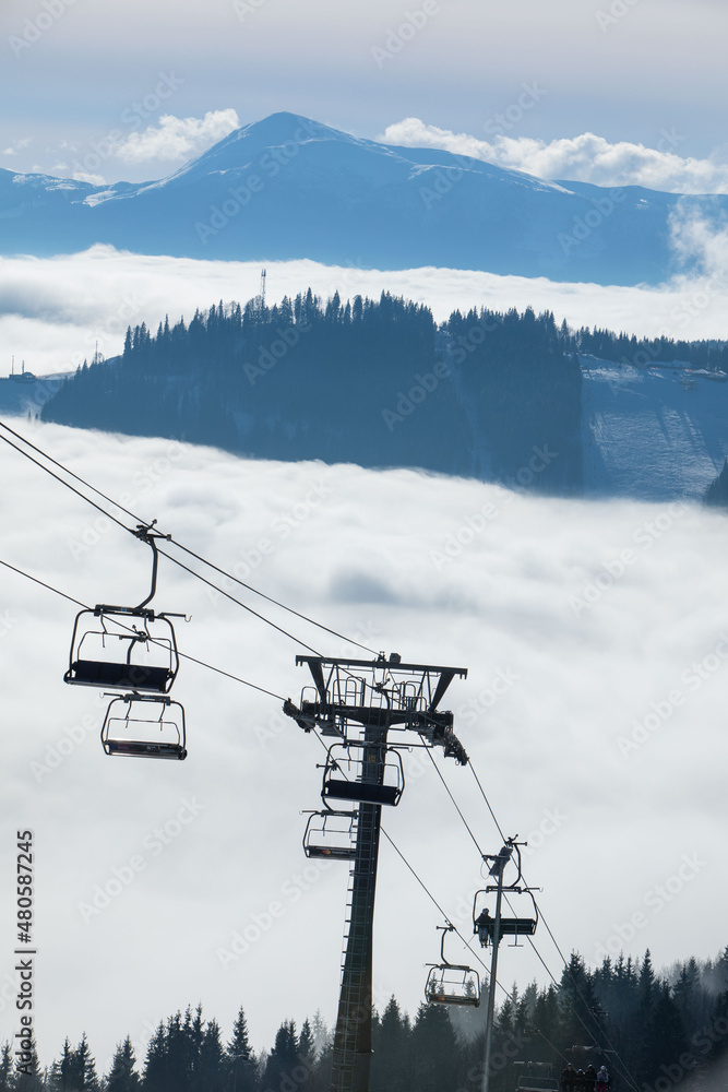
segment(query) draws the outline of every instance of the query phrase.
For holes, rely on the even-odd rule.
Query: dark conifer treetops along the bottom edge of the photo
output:
[[[374,1014],[372,1092],[478,1092],[485,1008],[421,1005],[413,1021],[392,997]],[[85,1035],[75,1047],[67,1040],[45,1072],[35,1054],[19,1072],[5,1044],[0,1092],[327,1092],[331,1040],[319,1012],[300,1033],[286,1017],[271,1049],[256,1055],[242,1008],[226,1044],[198,1006],[160,1022],[143,1058],[122,1040],[105,1076]],[[497,1014],[492,1092],[513,1092],[523,1061],[548,1063],[557,1076],[566,1061],[577,1069],[606,1064],[614,1092],[724,1089],[728,948],[661,976],[648,951],[636,961],[607,958],[595,971],[574,953],[558,985],[513,986]],[[717,1083],[706,1084],[706,1076]]]

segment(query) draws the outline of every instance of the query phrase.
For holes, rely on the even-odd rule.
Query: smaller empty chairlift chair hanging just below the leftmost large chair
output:
[[[186,759],[184,710],[166,697],[114,698],[102,725],[102,744],[111,756]]]

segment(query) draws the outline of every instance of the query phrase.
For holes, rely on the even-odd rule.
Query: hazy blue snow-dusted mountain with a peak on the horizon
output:
[[[658,284],[693,268],[675,252],[672,218],[704,200],[546,181],[282,112],[148,182],[0,170],[0,252],[44,257],[102,242],[195,259]],[[728,214],[728,197],[711,202]]]

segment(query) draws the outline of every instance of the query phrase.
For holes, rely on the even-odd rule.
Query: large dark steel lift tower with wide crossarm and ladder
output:
[[[442,747],[445,757],[467,764],[453,714],[438,709],[453,678],[467,670],[403,664],[396,653],[373,661],[297,656],[296,663],[308,664],[314,685],[303,690],[300,709],[287,701],[284,711],[306,732],[318,728],[332,740],[324,805],[336,799],[356,807],[332,1090],[368,1092],[381,810],[399,803],[404,771],[397,746],[411,747],[413,733],[420,746]]]

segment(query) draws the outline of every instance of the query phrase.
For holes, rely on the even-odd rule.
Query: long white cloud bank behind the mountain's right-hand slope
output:
[[[489,122],[491,130],[499,128],[497,118]],[[497,133],[487,141],[428,126],[419,118],[405,118],[389,126],[378,140],[406,147],[444,149],[538,178],[595,186],[645,186],[670,193],[728,193],[728,164],[717,158],[682,158],[676,150],[684,136],[676,130],[665,130],[653,149],[628,141],[610,144],[594,133],[549,143]]]

